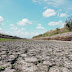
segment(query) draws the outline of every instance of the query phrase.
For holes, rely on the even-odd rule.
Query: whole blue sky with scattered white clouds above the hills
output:
[[[62,28],[72,0],[0,0],[0,33],[32,38]]]

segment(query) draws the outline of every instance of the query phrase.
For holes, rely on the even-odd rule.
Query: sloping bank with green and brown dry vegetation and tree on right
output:
[[[68,33],[70,32],[70,33]],[[33,37],[33,39],[43,39],[43,40],[72,40],[72,17],[66,20],[66,24],[63,28],[56,28],[55,30],[48,31],[44,34]],[[67,34],[66,34],[67,33]],[[65,34],[65,35],[64,35]],[[68,35],[69,34],[69,35]]]

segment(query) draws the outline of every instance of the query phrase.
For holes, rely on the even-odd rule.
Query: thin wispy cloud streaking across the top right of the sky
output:
[[[72,2],[70,0],[33,0],[35,3],[44,4],[47,7],[62,8],[72,10]]]

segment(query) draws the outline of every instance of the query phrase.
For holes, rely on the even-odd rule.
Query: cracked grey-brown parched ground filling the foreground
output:
[[[0,72],[72,72],[72,41],[0,42]]]

